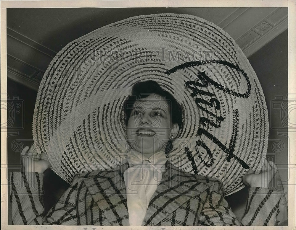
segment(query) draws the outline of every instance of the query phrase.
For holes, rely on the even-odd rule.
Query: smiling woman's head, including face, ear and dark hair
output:
[[[134,84],[124,112],[127,141],[131,149],[145,154],[168,153],[183,126],[181,105],[155,81]]]

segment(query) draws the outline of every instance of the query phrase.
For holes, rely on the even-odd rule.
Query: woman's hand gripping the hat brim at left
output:
[[[21,158],[25,172],[44,173],[46,169],[51,167],[46,155],[44,153],[38,155],[36,149],[33,148],[33,145],[30,149],[29,146],[25,146],[21,152]]]

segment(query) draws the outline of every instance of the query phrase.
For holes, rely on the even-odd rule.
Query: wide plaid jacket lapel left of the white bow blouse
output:
[[[125,163],[95,177],[83,179],[93,200],[110,225],[129,225],[126,187],[123,179],[123,172],[127,168],[128,164]],[[99,215],[99,213],[94,213],[94,215]]]

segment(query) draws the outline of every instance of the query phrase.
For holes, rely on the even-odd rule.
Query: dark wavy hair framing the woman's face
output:
[[[131,111],[133,110],[134,104],[138,99],[144,99],[151,94],[158,94],[165,97],[165,100],[170,101],[170,114],[171,121],[173,124],[178,124],[179,132],[183,128],[183,109],[179,102],[173,97],[173,95],[161,88],[156,81],[139,81],[133,85],[131,95],[127,97],[124,102],[124,115],[125,115],[125,124],[128,124],[128,120],[131,116]],[[178,136],[178,135],[177,135]],[[176,138],[176,137],[175,137]],[[172,150],[172,141],[169,140],[166,145],[165,153],[169,153]]]

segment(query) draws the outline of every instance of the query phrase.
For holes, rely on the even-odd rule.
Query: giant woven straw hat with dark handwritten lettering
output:
[[[104,26],[66,45],[41,81],[33,137],[52,169],[110,169],[128,153],[123,102],[137,81],[155,80],[184,109],[168,159],[192,174],[241,189],[266,154],[268,117],[258,78],[215,24],[192,15],[151,14]]]

